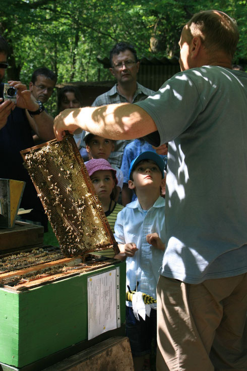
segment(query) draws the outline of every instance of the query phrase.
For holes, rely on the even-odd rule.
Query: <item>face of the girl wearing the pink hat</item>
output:
[[[110,197],[115,186],[115,180],[110,170],[98,170],[90,178],[99,199]]]

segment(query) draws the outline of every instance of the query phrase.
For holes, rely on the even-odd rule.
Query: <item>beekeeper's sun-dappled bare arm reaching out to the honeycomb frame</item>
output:
[[[130,103],[65,110],[54,120],[57,140],[63,139],[65,130],[74,133],[78,128],[109,139],[135,139],[157,130],[151,116]]]

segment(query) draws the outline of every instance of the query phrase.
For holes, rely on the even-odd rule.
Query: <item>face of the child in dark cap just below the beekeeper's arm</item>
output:
[[[86,145],[86,150],[88,153],[91,153],[92,158],[104,158],[107,160],[111,151],[114,150],[114,144],[110,139],[94,135]]]

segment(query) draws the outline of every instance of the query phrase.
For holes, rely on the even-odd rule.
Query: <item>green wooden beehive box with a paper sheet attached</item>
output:
[[[126,264],[119,260],[108,262],[106,267],[95,271],[27,291],[0,288],[0,362],[21,368],[87,341],[88,279],[112,270],[116,270],[119,279],[117,316],[122,325],[125,322]]]

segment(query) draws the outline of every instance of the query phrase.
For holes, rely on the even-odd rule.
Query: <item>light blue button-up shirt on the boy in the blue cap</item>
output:
[[[131,290],[151,295],[156,299],[156,286],[159,278],[159,269],[162,264],[163,251],[150,245],[146,236],[158,233],[161,241],[165,241],[165,199],[159,197],[154,205],[145,213],[138,200],[135,200],[118,214],[115,223],[115,239],[118,243],[135,243],[138,251],[133,257],[126,259],[126,285]],[[128,290],[128,288],[127,288]],[[132,306],[131,302],[127,302]]]

